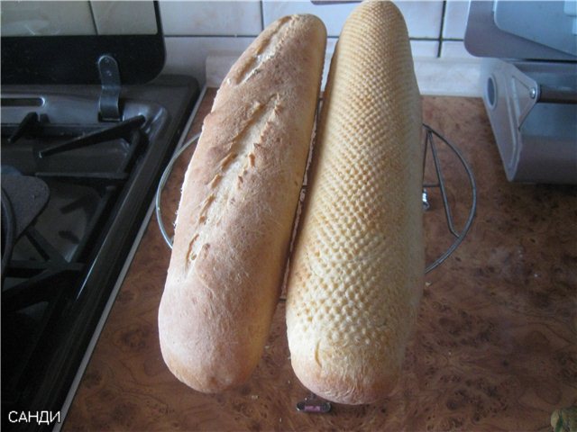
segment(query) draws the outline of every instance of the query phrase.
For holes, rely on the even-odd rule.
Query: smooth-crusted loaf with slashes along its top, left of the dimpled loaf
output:
[[[325,55],[324,24],[279,19],[224,78],[185,175],[159,311],[170,371],[200,392],[245,382],[279,299]]]

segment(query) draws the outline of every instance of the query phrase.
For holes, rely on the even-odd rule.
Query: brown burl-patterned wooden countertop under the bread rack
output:
[[[209,89],[191,134],[214,96]],[[387,399],[334,405],[325,415],[295,410],[308,392],[290,367],[282,302],[248,383],[216,395],[179,383],[160,356],[157,311],[169,248],[152,219],[64,429],[552,430],[551,413],[577,404],[577,188],[508,183],[480,99],[423,101],[426,123],[472,166],[478,208],[463,244],[426,275],[417,331]],[[449,198],[461,202],[453,208],[459,227],[470,204],[466,177],[450,152],[439,153],[453,185]],[[177,208],[189,154],[169,179],[164,214]],[[431,221],[444,214],[435,190],[431,203],[429,261],[450,244],[444,222]]]

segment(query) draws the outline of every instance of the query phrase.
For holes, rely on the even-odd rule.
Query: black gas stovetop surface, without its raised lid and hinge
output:
[[[3,201],[15,219],[46,201],[3,239],[6,430],[54,426],[33,413],[62,409],[197,95],[194,79],[160,76],[124,87],[122,118],[100,121],[99,86],[3,86]]]

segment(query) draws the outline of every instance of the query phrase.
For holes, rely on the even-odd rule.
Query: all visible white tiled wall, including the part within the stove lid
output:
[[[472,61],[463,47],[469,0],[394,1],[408,25],[413,57],[419,64],[419,85],[433,88],[431,83],[438,76],[443,80],[439,91],[446,93],[446,87],[453,85],[446,79],[453,77],[447,72],[453,63],[466,63],[457,76],[472,74],[478,62]],[[280,16],[298,13],[316,14],[324,21],[329,35],[326,57],[330,59],[343,23],[357,5],[319,5],[308,0],[160,0],[167,49],[164,71],[196,76],[204,84],[209,58],[209,66],[215,70],[215,76],[209,78],[214,84],[225,73],[223,65],[238,57],[264,26]],[[110,34],[120,32],[118,29],[132,33],[153,27],[152,15],[146,14],[152,9],[151,0],[140,4],[1,1],[0,7],[3,35]]]

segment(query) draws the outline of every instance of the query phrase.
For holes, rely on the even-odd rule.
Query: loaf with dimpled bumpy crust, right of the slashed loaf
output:
[[[363,3],[334,51],[288,280],[291,363],[327,400],[398,379],[425,273],[420,128],[403,17]]]

